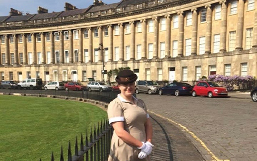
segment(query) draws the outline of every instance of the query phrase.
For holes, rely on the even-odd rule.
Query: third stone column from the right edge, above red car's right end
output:
[[[220,1],[221,4],[221,31],[220,31],[220,52],[226,52],[227,40],[227,5],[226,0]]]

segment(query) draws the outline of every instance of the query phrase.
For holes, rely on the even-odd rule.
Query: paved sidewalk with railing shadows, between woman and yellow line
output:
[[[153,124],[153,152],[151,160],[156,161],[202,161],[205,160],[197,148],[172,123],[151,115]]]

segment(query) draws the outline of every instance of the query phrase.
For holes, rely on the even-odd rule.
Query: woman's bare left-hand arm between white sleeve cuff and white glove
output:
[[[130,133],[124,130],[124,123],[122,121],[113,122],[112,127],[119,138],[121,138],[125,143],[134,145],[136,147],[142,147],[143,143],[133,137]]]

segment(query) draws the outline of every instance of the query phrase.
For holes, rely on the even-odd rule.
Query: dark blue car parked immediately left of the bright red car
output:
[[[159,89],[159,95],[170,94],[175,96],[191,95],[193,87],[187,83],[171,83]]]

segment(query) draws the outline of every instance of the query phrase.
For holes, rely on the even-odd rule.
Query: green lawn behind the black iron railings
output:
[[[63,145],[68,160],[68,143],[107,114],[102,109],[76,101],[0,95],[0,160],[59,160]],[[85,143],[84,143],[85,144]],[[74,154],[74,152],[73,152]]]

